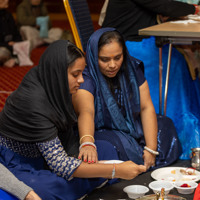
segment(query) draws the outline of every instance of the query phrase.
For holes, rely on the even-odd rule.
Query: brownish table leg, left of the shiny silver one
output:
[[[159,114],[162,115],[162,47],[159,48]]]

